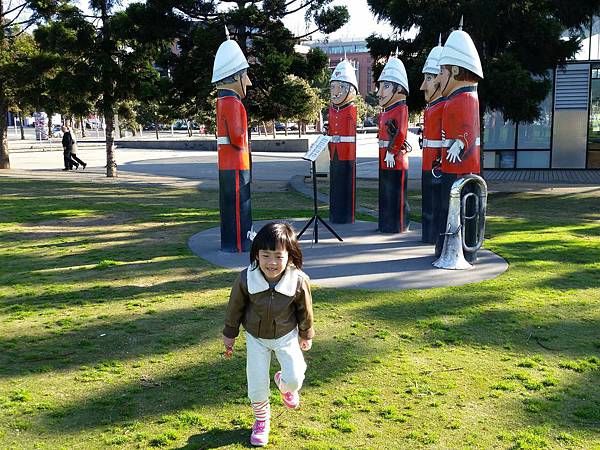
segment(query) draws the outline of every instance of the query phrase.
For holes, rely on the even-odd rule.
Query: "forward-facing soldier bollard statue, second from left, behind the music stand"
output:
[[[356,105],[354,67],[342,60],[330,81],[329,217],[332,223],[354,223],[356,208]]]

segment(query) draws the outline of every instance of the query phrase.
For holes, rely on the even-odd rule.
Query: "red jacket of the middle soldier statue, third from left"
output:
[[[398,132],[390,145],[390,135],[386,122],[395,121]],[[379,168],[382,170],[408,170],[408,156],[402,149],[408,131],[408,107],[406,101],[400,100],[384,110],[379,115]],[[388,167],[384,161],[385,152],[395,155],[396,165]]]

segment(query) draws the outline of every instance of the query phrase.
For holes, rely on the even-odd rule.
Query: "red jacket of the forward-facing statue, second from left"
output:
[[[346,103],[341,107],[329,107],[329,157],[337,157],[340,161],[356,160],[356,105]]]

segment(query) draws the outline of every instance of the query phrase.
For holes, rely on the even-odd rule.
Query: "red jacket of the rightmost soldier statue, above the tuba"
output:
[[[446,98],[442,114],[442,172],[478,174],[479,162],[479,98],[476,86],[466,86]],[[448,149],[456,140],[465,146],[460,152],[461,161],[451,163],[446,159]]]

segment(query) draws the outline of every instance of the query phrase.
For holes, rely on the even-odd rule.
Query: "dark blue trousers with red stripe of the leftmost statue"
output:
[[[241,253],[250,250],[252,228],[250,171],[219,170],[219,207],[221,211],[221,250]]]

